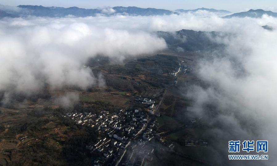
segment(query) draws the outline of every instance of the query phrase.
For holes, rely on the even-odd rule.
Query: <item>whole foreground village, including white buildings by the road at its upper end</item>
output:
[[[118,165],[128,146],[134,148],[137,143],[142,144],[143,141],[150,141],[154,137],[158,128],[156,116],[160,116],[159,113],[155,114],[155,101],[147,98],[138,100],[149,106],[149,112],[141,108],[126,107],[113,113],[101,111],[99,114],[66,113],[64,115],[72,118],[79,125],[87,125],[99,132],[97,140],[86,145],[91,153],[98,155],[94,160],[95,166],[108,163]],[[132,142],[134,140],[136,143]]]

